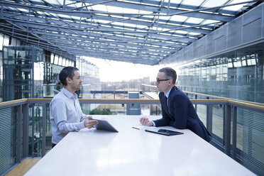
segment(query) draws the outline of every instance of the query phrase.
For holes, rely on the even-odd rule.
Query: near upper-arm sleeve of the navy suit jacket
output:
[[[188,101],[187,97],[179,94],[172,100],[175,121],[171,121],[171,126],[179,129],[186,128],[188,119]]]

